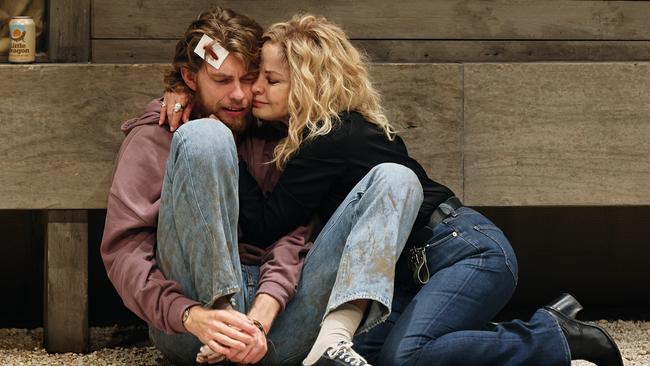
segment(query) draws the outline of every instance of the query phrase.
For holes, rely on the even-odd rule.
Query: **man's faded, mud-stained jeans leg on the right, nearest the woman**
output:
[[[265,364],[301,364],[322,318],[346,302],[374,300],[358,333],[388,317],[395,265],[422,197],[415,173],[397,164],[376,166],[352,189],[307,254],[296,296],[269,333]]]

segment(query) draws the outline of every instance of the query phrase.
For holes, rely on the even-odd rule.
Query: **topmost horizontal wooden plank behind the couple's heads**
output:
[[[224,0],[218,3],[266,27],[297,12],[324,15],[355,39],[648,40],[650,6],[643,1],[318,1]],[[179,37],[198,0],[92,0],[93,38]]]

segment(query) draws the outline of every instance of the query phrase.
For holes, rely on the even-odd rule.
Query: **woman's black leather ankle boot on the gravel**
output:
[[[605,329],[575,320],[550,307],[544,309],[560,324],[572,360],[586,360],[598,366],[623,366],[621,352]]]

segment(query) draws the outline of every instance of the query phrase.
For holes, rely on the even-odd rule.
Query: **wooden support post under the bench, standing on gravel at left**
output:
[[[43,343],[49,352],[88,350],[88,214],[47,214]]]

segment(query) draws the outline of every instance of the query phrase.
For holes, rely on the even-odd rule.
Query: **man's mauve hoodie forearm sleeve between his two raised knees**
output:
[[[257,293],[276,299],[282,310],[296,294],[305,255],[312,246],[313,224],[300,226],[266,249]]]

